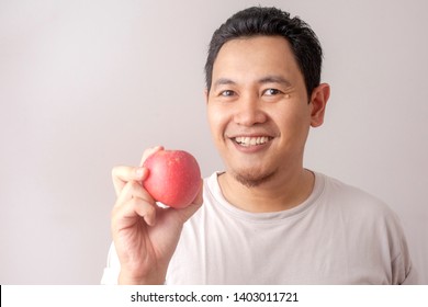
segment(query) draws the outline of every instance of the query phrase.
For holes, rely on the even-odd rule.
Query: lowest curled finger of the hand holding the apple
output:
[[[146,200],[133,197],[121,206],[115,206],[112,213],[112,227],[121,230],[134,226],[140,218],[153,226],[156,221],[156,204]]]

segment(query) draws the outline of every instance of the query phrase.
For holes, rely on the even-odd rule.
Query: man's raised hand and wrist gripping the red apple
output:
[[[161,149],[147,149],[140,167],[122,166],[112,171],[117,195],[112,236],[121,262],[120,284],[164,284],[182,226],[202,205],[202,180],[196,198],[182,209],[159,207],[143,187],[149,173],[142,166]]]

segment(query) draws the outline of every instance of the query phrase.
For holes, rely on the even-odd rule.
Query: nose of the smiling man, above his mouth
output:
[[[235,123],[243,126],[252,126],[267,121],[262,110],[261,101],[256,95],[241,96],[237,103],[234,116]]]

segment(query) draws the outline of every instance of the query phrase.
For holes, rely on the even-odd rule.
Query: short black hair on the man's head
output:
[[[277,8],[252,7],[235,13],[213,34],[205,64],[205,82],[210,91],[213,66],[222,46],[228,41],[251,36],[282,36],[289,43],[305,80],[306,91],[319,86],[323,49],[314,31],[299,16]]]

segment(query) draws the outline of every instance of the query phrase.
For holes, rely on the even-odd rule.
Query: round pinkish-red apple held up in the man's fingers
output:
[[[159,150],[143,163],[149,170],[143,186],[167,206],[190,205],[201,187],[201,170],[196,159],[184,150]]]

